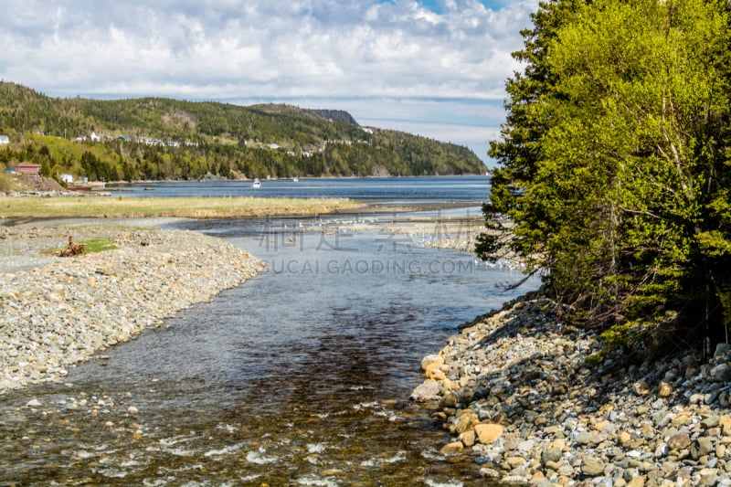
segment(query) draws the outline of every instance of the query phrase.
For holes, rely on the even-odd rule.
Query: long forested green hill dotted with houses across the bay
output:
[[[480,174],[470,149],[346,111],[164,98],[51,98],[0,82],[0,164],[93,180]]]

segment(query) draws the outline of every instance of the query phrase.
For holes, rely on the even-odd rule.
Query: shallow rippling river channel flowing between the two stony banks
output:
[[[0,485],[483,485],[408,394],[421,357],[520,293],[494,285],[518,274],[377,231],[199,225],[270,270],[72,369],[73,386],[0,397]]]

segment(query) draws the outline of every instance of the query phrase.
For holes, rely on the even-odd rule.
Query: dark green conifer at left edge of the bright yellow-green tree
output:
[[[533,27],[521,31],[524,48],[513,57],[524,63],[524,70],[505,84],[508,100],[502,140],[490,143],[489,155],[500,166],[493,171],[490,199],[482,207],[488,228],[477,242],[482,259],[498,259],[511,249],[527,259],[529,272],[546,266],[538,257],[544,255],[543,236],[551,222],[537,208],[525,205],[524,190],[535,177],[542,158],[541,140],[552,122],[543,101],[556,84],[556,74],[548,66],[548,46],[581,5],[580,0],[541,2],[531,15]]]

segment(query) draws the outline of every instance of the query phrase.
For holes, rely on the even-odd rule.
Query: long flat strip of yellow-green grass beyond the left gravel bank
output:
[[[335,198],[0,196],[0,217],[243,218],[337,213],[362,206]]]

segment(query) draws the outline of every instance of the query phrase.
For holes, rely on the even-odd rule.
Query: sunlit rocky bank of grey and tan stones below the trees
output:
[[[467,323],[411,397],[450,431],[441,448],[517,485],[731,485],[731,348],[652,366],[599,358],[594,333],[532,296]]]

